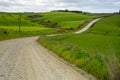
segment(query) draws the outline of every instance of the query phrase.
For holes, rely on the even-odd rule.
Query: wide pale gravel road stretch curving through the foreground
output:
[[[0,42],[0,80],[95,80],[42,47],[37,39]]]

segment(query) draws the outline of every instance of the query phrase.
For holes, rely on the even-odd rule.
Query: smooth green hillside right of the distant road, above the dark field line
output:
[[[88,32],[94,34],[120,36],[120,15],[108,17],[101,20]]]

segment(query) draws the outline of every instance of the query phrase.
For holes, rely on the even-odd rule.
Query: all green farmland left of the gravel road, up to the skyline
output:
[[[69,32],[95,17],[72,12],[0,13],[0,40]]]

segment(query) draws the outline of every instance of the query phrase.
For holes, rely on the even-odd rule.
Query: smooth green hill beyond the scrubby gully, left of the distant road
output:
[[[60,28],[78,28],[80,24],[95,17],[73,12],[47,12],[39,14],[39,17],[33,18],[33,21],[43,20],[48,23],[58,23]]]

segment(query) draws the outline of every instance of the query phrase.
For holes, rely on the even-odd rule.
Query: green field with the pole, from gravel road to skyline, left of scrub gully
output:
[[[21,14],[21,32],[19,33],[20,13],[0,13],[0,40],[57,32],[54,28],[31,22],[28,16],[33,14],[35,13]]]

